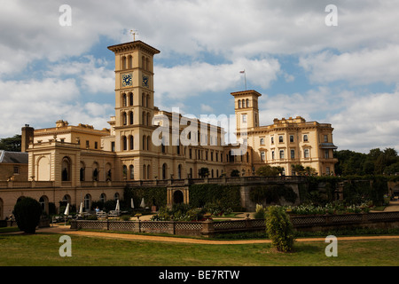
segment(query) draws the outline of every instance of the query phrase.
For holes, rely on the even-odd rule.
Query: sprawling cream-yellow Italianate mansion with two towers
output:
[[[254,176],[266,164],[281,167],[286,176],[295,175],[293,165],[298,164],[318,175],[334,173],[331,124],[297,116],[260,125],[261,94],[235,91],[239,143],[225,144],[222,127],[155,106],[153,57],[160,51],[142,41],[108,49],[115,55],[115,114],[109,128],[63,120],[47,129],[23,127],[27,180],[0,181],[0,218],[12,214],[23,196],[40,201],[46,210],[49,202],[58,206],[59,201],[83,202],[90,209],[92,201],[122,198],[126,184],[168,185],[200,178],[203,168],[207,178],[230,177],[233,170],[241,177]]]

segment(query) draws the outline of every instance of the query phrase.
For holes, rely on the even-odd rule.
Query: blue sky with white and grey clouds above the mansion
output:
[[[397,0],[0,4],[0,138],[59,119],[108,127],[114,58],[106,47],[132,41],[135,29],[136,39],[160,50],[160,109],[234,114],[230,93],[245,90],[246,70],[246,88],[262,93],[262,125],[301,115],[332,123],[340,150],[399,150]],[[69,19],[63,4],[70,26],[60,24]]]

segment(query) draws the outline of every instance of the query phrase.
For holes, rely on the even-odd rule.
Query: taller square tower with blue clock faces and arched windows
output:
[[[142,41],[108,49],[115,54],[115,152],[133,159],[151,152],[153,56],[160,51]]]

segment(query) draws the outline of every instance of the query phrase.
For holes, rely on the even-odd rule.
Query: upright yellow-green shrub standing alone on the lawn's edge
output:
[[[266,210],[266,233],[271,245],[278,251],[289,252],[293,249],[293,225],[284,208],[270,206]]]

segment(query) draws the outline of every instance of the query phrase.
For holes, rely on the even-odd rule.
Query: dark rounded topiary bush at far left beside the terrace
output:
[[[15,204],[13,214],[21,231],[35,233],[42,215],[42,206],[35,199],[26,197]]]

